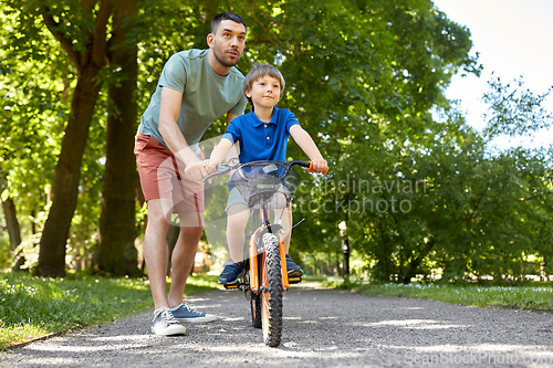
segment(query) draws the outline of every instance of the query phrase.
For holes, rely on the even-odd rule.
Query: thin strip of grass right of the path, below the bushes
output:
[[[551,283],[533,286],[479,286],[448,284],[362,284],[352,282],[327,282],[332,287],[345,287],[367,295],[392,297],[416,297],[451,304],[479,307],[503,307],[515,309],[553,312],[553,287]]]

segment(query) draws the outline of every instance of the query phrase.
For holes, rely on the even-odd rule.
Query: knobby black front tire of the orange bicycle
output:
[[[268,233],[263,235],[265,262],[263,264],[261,293],[261,324],[265,345],[280,345],[282,336],[282,266],[279,239]]]

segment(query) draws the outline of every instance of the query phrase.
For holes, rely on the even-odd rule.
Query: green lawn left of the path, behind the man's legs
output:
[[[185,294],[217,288],[190,277]],[[113,322],[153,308],[147,278],[70,275],[65,278],[0,273],[0,350],[69,329]]]

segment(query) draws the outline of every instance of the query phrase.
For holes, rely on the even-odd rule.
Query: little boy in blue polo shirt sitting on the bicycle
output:
[[[292,136],[313,162],[314,172],[327,169],[311,136],[300,126],[294,114],[284,108],[276,108],[276,103],[284,92],[284,78],[279,70],[269,64],[254,64],[244,80],[244,94],[252,104],[249,114],[236,117],[227,128],[221,141],[211,153],[206,166],[208,172],[215,172],[229,149],[239,141],[240,164],[261,160],[286,160],[288,137]],[[282,213],[282,211],[284,213]],[[279,213],[281,212],[281,213]],[[234,284],[243,271],[244,230],[250,211],[246,200],[237,188],[232,188],[227,202],[227,241],[229,243],[230,261],[219,276],[223,285]],[[275,217],[282,217],[284,230],[292,224],[291,209],[275,210]],[[290,234],[290,232],[288,232]],[[284,239],[286,251],[286,269],[291,277],[301,276],[302,269],[296,265],[288,251],[290,235]]]

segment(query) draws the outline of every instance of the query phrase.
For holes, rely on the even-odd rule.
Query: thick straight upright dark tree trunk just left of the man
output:
[[[114,12],[111,63],[122,66],[122,80],[108,88],[111,103],[107,117],[106,165],[102,208],[97,269],[113,275],[138,275],[136,239],[136,164],[133,154],[136,134],[137,103],[134,96],[138,74],[136,42],[125,41],[132,23],[125,19],[136,11],[136,1],[121,3]]]

